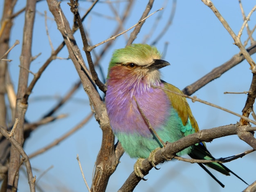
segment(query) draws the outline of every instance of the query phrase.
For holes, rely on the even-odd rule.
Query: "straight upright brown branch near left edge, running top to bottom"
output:
[[[15,140],[22,146],[24,142],[24,122],[25,113],[27,111],[27,100],[24,99],[27,89],[29,69],[31,63],[31,45],[32,34],[34,28],[34,18],[36,13],[36,0],[27,0],[27,6],[25,11],[25,24],[23,29],[23,42],[22,51],[20,55],[20,76],[18,83],[18,93],[16,101],[15,118],[18,118],[20,123],[17,125],[14,133]],[[16,170],[18,170],[20,164],[20,152],[16,147],[11,145],[10,163],[8,170],[8,188],[7,192],[16,192],[18,186],[18,178]]]

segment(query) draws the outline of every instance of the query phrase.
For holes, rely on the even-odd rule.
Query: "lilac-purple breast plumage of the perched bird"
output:
[[[164,85],[159,83],[158,86]],[[108,85],[106,107],[113,132],[137,133],[149,137],[150,130],[132,96],[135,96],[139,107],[155,130],[163,127],[171,114],[168,96],[162,89],[146,87],[143,84],[137,84],[136,87]]]

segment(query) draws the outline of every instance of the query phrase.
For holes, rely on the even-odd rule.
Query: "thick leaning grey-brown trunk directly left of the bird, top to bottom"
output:
[[[85,66],[85,63],[82,60],[81,52],[76,45],[74,36],[72,35],[70,25],[65,18],[63,11],[61,10],[60,2],[57,2],[56,0],[47,0],[47,4],[55,18],[58,29],[64,38],[70,58],[72,59],[74,66],[76,67],[76,70],[81,78],[85,92],[90,98],[93,110],[95,111],[96,119],[99,122],[103,132],[101,150],[99,151],[95,165],[96,170],[94,179],[92,181],[92,190],[95,192],[105,191],[109,177],[115,171],[118,165],[115,157],[115,136],[112,133],[112,129],[109,125],[106,106],[101,100],[99,93],[95,89],[94,83],[90,79],[89,75],[83,70],[82,66]]]

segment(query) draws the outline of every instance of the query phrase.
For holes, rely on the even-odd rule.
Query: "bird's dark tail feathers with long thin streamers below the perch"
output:
[[[215,159],[211,155],[211,153],[207,150],[204,143],[198,143],[198,144],[194,145],[192,147],[192,150],[191,150],[191,153],[189,154],[189,156],[191,156],[191,158],[193,158],[193,159],[205,159],[205,160]],[[213,169],[217,170],[218,172],[221,172],[222,174],[225,174],[225,175],[230,175],[229,173],[232,173],[238,179],[240,179],[241,181],[246,183],[242,178],[240,178],[240,176],[235,174],[233,171],[231,171],[229,168],[227,168],[222,163],[218,163],[218,162],[198,163],[198,165],[200,165],[200,167],[202,167],[215,181],[217,181],[222,186],[222,188],[224,188],[225,185],[223,185],[203,164],[207,165],[208,167],[211,167],[211,168],[213,168]],[[246,183],[246,184],[248,185],[248,183]]]

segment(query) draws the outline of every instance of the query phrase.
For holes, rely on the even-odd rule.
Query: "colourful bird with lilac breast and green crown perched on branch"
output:
[[[154,46],[132,44],[116,49],[109,63],[105,96],[107,114],[113,133],[132,158],[146,159],[151,152],[163,147],[161,141],[175,142],[199,131],[186,98],[181,96],[182,91],[161,80],[159,69],[170,65],[161,56]],[[176,155],[185,154],[193,159],[214,160],[204,142]],[[225,175],[232,173],[246,183],[222,163],[198,164],[222,187],[225,185],[204,165]],[[142,173],[135,174],[143,179]]]

